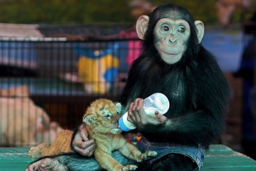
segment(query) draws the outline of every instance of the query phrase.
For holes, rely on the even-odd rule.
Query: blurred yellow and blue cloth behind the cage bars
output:
[[[88,49],[87,44],[76,44],[74,52],[79,55],[78,75],[88,93],[107,93],[115,81],[119,59],[118,44],[113,43],[104,49]]]

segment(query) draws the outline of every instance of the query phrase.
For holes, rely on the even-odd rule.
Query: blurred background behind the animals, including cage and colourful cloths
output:
[[[177,3],[233,88],[219,140],[256,159],[256,0],[0,0],[0,146],[52,142],[97,98],[116,101],[140,54],[139,16]]]

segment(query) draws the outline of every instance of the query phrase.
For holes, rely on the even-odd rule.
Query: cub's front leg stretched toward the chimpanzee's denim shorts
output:
[[[154,157],[157,155],[156,151],[146,151],[145,153],[141,153],[134,145],[123,140],[123,145],[119,148],[119,151],[125,157],[129,159],[133,159],[137,162],[142,162],[143,160],[149,159],[150,157]],[[122,144],[122,143],[120,143]]]

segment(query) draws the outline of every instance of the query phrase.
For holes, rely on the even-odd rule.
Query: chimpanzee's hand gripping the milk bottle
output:
[[[167,118],[158,111],[155,112],[155,118],[146,115],[143,102],[143,99],[137,98],[130,104],[127,117],[128,121],[133,123],[137,128],[145,128],[146,125],[159,125],[166,122]]]

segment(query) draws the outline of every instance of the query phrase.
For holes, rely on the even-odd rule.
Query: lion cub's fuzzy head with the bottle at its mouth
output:
[[[121,133],[118,128],[119,112],[121,104],[108,99],[97,99],[87,108],[83,116],[83,122],[92,130],[100,133]]]

